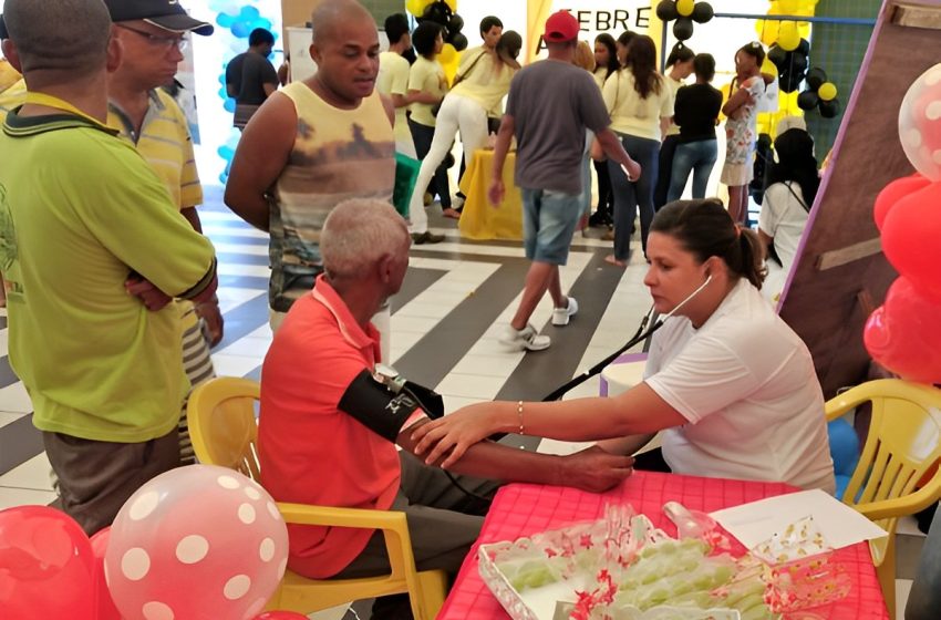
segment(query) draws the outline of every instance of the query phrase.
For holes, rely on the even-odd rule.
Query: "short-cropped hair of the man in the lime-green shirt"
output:
[[[104,70],[111,17],[102,0],[7,0],[3,20],[23,73]]]

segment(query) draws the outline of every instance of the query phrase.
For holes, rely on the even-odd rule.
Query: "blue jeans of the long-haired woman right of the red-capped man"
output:
[[[620,164],[608,159],[611,189],[614,192],[614,258],[627,261],[631,254],[631,227],[640,207],[640,239],[647,254],[647,234],[653,220],[653,187],[660,156],[660,141],[622,135],[621,143],[631,159],[640,164],[637,180],[628,180]]]

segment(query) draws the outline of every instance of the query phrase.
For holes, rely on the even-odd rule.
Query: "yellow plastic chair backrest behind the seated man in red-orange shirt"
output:
[[[187,405],[193,450],[201,463],[236,469],[260,482],[255,404],[260,386],[249,379],[220,376],[193,391]]]

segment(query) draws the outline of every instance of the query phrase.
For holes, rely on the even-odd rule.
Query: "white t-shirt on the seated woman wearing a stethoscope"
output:
[[[689,420],[663,432],[673,472],[834,492],[810,352],[745,278],[700,329],[666,320],[644,381]]]

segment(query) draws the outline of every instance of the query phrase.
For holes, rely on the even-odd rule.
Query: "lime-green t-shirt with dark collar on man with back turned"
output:
[[[0,269],[10,363],[33,423],[133,443],[168,433],[188,389],[180,323],[125,291],[135,271],[177,297],[203,291],[213,246],[179,215],[134,147],[62,114],[0,132]]]

